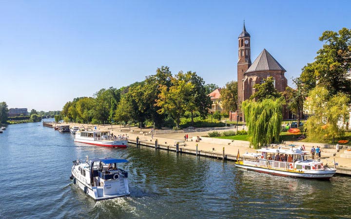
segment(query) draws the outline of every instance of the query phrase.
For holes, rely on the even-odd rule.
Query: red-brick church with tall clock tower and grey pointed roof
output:
[[[251,36],[246,31],[245,23],[241,34],[238,37],[238,62],[237,62],[237,81],[238,81],[238,106],[249,99],[254,94],[254,85],[264,83],[267,77],[273,77],[275,89],[279,92],[285,91],[288,80],[284,73],[286,70],[264,49],[260,55],[251,62]],[[283,118],[288,118],[288,110],[283,109]],[[230,112],[230,120],[242,121],[242,113]]]

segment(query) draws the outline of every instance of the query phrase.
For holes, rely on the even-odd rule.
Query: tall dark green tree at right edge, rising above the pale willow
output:
[[[351,80],[347,73],[351,69],[351,29],[325,31],[319,40],[324,42],[323,47],[298,78],[304,94],[307,96],[318,85],[328,89],[331,95],[344,92],[350,96]]]

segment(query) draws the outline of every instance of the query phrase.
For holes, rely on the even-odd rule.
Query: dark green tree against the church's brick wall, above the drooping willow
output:
[[[251,95],[250,100],[261,102],[264,99],[275,99],[281,97],[281,94],[274,88],[273,77],[267,77],[262,84],[254,85],[255,92]]]

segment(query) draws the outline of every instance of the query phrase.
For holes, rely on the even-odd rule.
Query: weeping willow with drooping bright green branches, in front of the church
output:
[[[283,98],[263,99],[261,102],[246,100],[242,103],[250,143],[254,148],[278,141],[283,103]]]

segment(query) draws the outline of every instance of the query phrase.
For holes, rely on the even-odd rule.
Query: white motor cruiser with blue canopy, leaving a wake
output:
[[[70,179],[97,201],[130,195],[128,172],[117,167],[120,163],[128,161],[111,157],[89,160],[88,156],[86,162],[77,159]]]

